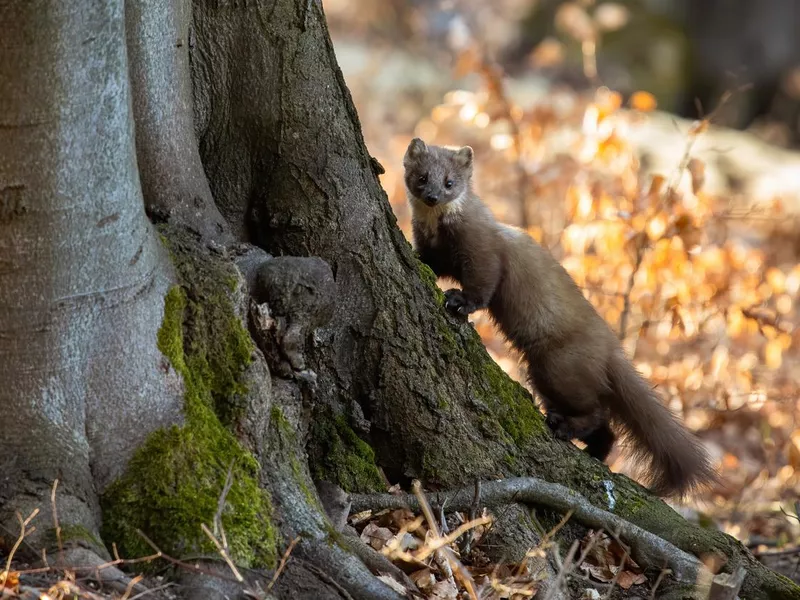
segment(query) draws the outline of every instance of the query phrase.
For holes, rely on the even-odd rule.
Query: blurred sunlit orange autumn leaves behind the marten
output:
[[[722,431],[703,436],[726,478],[709,502],[732,501],[754,476],[742,465],[763,464],[765,453],[773,475],[789,484],[778,496],[796,493],[791,440],[800,266],[775,262],[767,233],[754,241],[728,231],[732,215],[725,199],[703,191],[705,165],[688,150],[675,172],[643,175],[626,131],[630,119],[646,118],[641,113],[655,108],[649,94],[631,98],[634,112],[605,88],[518,107],[503,95],[498,73],[477,56],[459,64],[476,66],[484,89],[447,94],[413,135],[471,145],[476,191],[497,217],[550,248],[612,328],[619,332],[624,324],[622,338],[634,362],[691,427]],[[706,121],[692,125],[687,149],[707,128]],[[382,158],[388,171],[397,170],[390,199],[407,235],[401,159],[411,137],[397,136],[394,156]],[[493,357],[524,382],[524,369],[488,317],[475,315],[474,322]],[[754,413],[749,426],[756,437],[741,443],[741,430],[714,425],[735,410],[787,418],[780,432],[759,429],[761,417]],[[755,462],[748,460],[753,456]],[[627,470],[622,463],[614,468]]]

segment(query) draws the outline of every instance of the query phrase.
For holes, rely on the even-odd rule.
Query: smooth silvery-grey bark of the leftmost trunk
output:
[[[0,524],[47,519],[58,478],[64,516],[97,531],[97,489],[181,395],[153,344],[170,270],[139,187],[122,3],[4,1],[0,22]]]

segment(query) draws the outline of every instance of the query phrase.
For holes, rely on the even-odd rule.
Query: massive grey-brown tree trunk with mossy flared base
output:
[[[213,553],[200,525],[221,515],[256,575],[301,536],[277,597],[397,598],[312,479],[367,492],[384,476],[536,475],[745,566],[745,597],[800,597],[732,538],[554,441],[446,315],[317,0],[62,5],[0,0],[14,23],[0,38],[0,411],[19,425],[0,428],[18,456],[0,459],[6,529],[49,506],[59,477],[64,523],[125,556],[152,552],[137,530],[172,555]]]

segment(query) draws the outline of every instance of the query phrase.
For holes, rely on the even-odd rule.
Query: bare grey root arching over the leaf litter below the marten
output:
[[[711,573],[691,554],[617,515],[597,508],[583,496],[557,483],[535,477],[517,477],[483,482],[481,488],[481,500],[485,506],[497,507],[519,502],[544,506],[562,514],[572,511],[573,517],[580,523],[604,529],[625,540],[630,546],[631,557],[639,565],[669,568],[678,581],[693,585],[711,579]],[[473,494],[474,487],[466,487],[428,496],[440,504],[446,501],[450,510],[468,510],[474,501]],[[351,499],[354,512],[419,508],[419,502],[412,494],[353,494]]]

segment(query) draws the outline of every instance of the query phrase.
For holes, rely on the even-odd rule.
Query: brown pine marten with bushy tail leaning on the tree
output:
[[[524,356],[557,438],[579,439],[603,461],[616,430],[662,496],[714,480],[701,443],[628,361],[569,273],[525,232],[498,223],[473,193],[472,163],[469,146],[419,138],[403,159],[420,260],[461,285],[445,292],[446,308],[462,316],[489,310]]]

